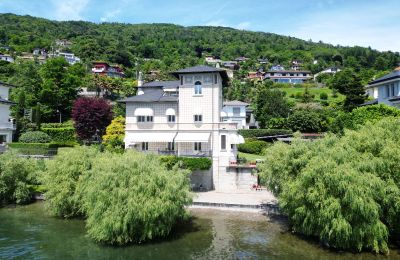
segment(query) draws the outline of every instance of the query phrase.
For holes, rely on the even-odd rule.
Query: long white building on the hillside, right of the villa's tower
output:
[[[304,83],[312,79],[310,71],[306,70],[270,70],[264,75],[264,79],[269,79],[279,83]]]

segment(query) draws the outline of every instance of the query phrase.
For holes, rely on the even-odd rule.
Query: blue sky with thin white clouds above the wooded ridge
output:
[[[273,32],[400,51],[399,0],[0,0],[0,13]]]

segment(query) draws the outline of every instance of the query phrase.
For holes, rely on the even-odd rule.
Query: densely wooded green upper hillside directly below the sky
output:
[[[58,22],[0,14],[0,45],[10,46],[17,54],[31,52],[34,48],[50,49],[56,39],[72,41],[71,51],[84,62],[106,60],[133,67],[137,59],[142,58],[145,61],[141,60],[140,64],[145,70],[170,71],[203,63],[202,54],[205,53],[224,60],[238,56],[253,60],[265,57],[270,63],[283,65],[301,60],[305,69],[313,73],[330,65],[356,70],[391,70],[400,61],[399,53],[333,46],[225,27]],[[318,64],[313,64],[314,60],[318,60]]]

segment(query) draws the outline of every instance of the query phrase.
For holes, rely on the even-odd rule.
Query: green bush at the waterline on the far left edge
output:
[[[0,155],[0,206],[8,203],[25,204],[31,200],[28,184],[34,183],[38,164],[7,152]]]

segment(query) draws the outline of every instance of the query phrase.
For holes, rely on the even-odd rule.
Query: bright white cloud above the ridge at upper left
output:
[[[54,18],[57,20],[83,20],[82,12],[89,4],[89,0],[52,0]]]

